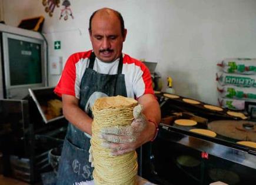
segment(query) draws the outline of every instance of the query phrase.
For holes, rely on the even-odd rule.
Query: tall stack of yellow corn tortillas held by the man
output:
[[[123,96],[101,97],[95,101],[91,139],[95,184],[136,184],[137,153],[111,156],[111,151],[101,146],[103,140],[98,137],[103,127],[131,125],[132,110],[136,105],[136,100]]]

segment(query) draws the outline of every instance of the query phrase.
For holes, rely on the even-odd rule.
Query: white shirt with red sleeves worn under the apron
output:
[[[62,72],[61,79],[54,89],[54,92],[61,96],[62,94],[72,95],[79,99],[80,83],[85,70],[89,66],[89,56],[92,51],[79,52],[71,55]],[[115,75],[118,70],[119,59],[114,62],[102,62],[95,58],[94,70],[98,73]],[[125,78],[125,87],[128,97],[140,97],[145,94],[154,94],[152,89],[151,74],[148,68],[141,61],[123,54],[122,74]]]

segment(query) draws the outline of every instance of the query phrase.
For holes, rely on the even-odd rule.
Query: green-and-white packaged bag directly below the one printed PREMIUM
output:
[[[256,88],[242,88],[232,85],[218,85],[217,90],[221,97],[242,100],[256,100]]]

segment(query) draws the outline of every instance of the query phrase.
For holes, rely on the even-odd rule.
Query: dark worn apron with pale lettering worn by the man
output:
[[[81,80],[79,107],[91,115],[92,101],[99,96],[127,97],[125,79],[122,75],[122,56],[119,59],[117,75],[105,75],[97,73],[94,68],[95,54],[92,52],[89,59],[89,66]],[[72,185],[81,181],[92,180],[91,163],[89,159],[90,139],[84,132],[77,129],[71,123],[68,124],[68,131],[63,144],[61,160],[58,169],[57,185]]]

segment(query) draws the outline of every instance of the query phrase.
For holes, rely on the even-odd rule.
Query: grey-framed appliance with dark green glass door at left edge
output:
[[[39,32],[0,23],[0,98],[23,99],[47,86],[46,42]]]

